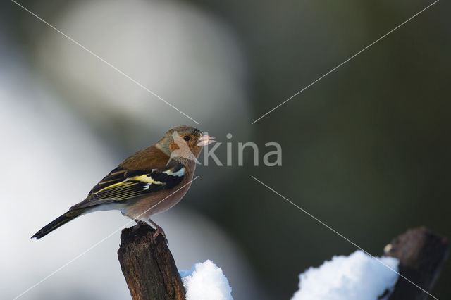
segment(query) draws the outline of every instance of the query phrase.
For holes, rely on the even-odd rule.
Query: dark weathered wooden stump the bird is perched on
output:
[[[185,299],[185,288],[174,258],[155,230],[147,225],[126,228],[121,233],[118,258],[133,300]]]

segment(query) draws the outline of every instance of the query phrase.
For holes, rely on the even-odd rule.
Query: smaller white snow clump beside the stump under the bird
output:
[[[232,288],[223,270],[207,259],[191,270],[180,270],[187,300],[233,300]]]

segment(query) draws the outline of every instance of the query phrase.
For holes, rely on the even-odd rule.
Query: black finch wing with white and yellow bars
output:
[[[70,209],[85,208],[146,196],[161,189],[171,189],[185,176],[182,164],[152,170],[128,170],[118,167],[92,188],[87,198]]]

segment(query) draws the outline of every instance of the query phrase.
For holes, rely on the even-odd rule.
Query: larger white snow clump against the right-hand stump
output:
[[[397,258],[377,258],[398,271]],[[333,256],[319,268],[299,275],[299,290],[291,300],[376,300],[385,289],[393,289],[397,273],[363,251]]]

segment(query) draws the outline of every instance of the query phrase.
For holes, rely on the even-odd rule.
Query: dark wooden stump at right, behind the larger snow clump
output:
[[[400,261],[399,273],[430,293],[445,263],[450,245],[446,237],[440,237],[418,227],[395,237],[385,246],[385,256]],[[399,277],[388,300],[424,300],[428,294]]]

